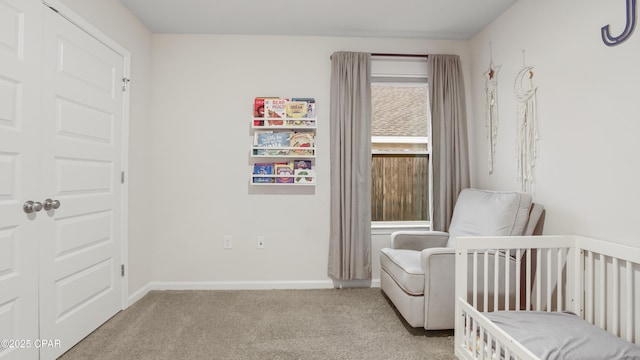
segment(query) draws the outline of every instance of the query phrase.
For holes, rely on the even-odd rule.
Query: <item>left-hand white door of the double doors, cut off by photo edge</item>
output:
[[[0,0],[0,359],[37,359],[41,5]],[[7,341],[5,341],[5,339]],[[16,341],[23,340],[23,341]]]

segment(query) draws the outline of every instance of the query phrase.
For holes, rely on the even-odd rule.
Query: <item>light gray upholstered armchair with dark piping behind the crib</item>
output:
[[[453,329],[455,240],[458,236],[542,233],[544,209],[529,194],[463,190],[449,232],[399,231],[380,254],[380,285],[407,323]]]

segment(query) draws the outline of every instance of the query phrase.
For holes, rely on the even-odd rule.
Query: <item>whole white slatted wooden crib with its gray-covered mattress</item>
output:
[[[602,348],[609,351],[602,356],[640,358],[640,346],[635,345],[640,342],[639,264],[638,248],[580,236],[458,238],[456,356],[579,358],[567,354],[576,348],[588,350],[587,358],[600,358],[596,354]],[[551,327],[552,332],[570,333],[578,340],[564,339],[566,334],[546,339],[534,334],[555,321],[543,318],[555,315],[572,322],[557,320],[560,325]],[[609,349],[615,344],[620,348]]]

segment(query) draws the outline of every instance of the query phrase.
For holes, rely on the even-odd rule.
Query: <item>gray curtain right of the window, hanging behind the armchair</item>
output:
[[[458,194],[471,185],[460,57],[429,55],[433,166],[433,230],[447,231]]]

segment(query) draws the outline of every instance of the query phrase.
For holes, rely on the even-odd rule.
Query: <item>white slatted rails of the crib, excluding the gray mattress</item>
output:
[[[458,238],[456,353],[469,348],[460,330],[470,325],[492,339],[502,336],[480,314],[499,310],[570,311],[637,344],[638,264],[640,249],[579,236]],[[508,339],[492,341],[510,349]]]

